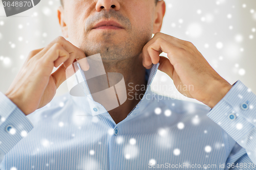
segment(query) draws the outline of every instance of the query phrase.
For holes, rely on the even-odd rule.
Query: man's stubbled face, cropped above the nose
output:
[[[155,0],[65,0],[62,19],[70,42],[86,56],[100,53],[111,62],[141,53],[153,34],[155,10]]]

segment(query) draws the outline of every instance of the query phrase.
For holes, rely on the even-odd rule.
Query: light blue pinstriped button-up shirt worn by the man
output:
[[[28,116],[0,93],[0,169],[256,169],[255,94],[238,80],[212,109],[164,98],[150,88],[158,66],[118,124],[69,93]]]

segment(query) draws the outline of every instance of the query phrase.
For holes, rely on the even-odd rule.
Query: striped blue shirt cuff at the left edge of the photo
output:
[[[33,128],[26,115],[0,92],[0,163],[14,145]]]

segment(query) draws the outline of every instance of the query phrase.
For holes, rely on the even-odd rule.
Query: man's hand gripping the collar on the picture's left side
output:
[[[77,71],[73,68],[75,60],[84,71],[89,69],[86,55],[59,36],[46,47],[30,52],[5,95],[28,115],[47,105],[61,83]],[[51,74],[54,66],[59,68]]]

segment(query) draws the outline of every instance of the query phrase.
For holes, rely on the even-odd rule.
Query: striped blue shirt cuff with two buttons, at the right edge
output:
[[[256,95],[240,80],[206,115],[245,148],[256,164]]]

